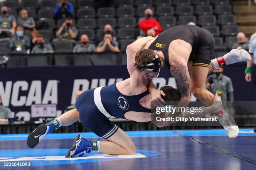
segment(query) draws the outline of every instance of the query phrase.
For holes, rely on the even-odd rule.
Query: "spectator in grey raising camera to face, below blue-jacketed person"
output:
[[[78,30],[73,26],[72,18],[67,18],[67,20],[64,21],[64,23],[61,25],[59,30],[56,32],[57,38],[55,38],[53,42],[71,41],[75,43],[77,34],[78,34]]]

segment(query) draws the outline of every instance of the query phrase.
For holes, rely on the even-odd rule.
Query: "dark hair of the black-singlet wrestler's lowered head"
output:
[[[165,93],[165,96],[161,95],[161,97],[162,97],[162,99],[164,99],[164,101],[179,101],[180,100],[180,94],[176,88],[166,85],[164,87],[161,87],[160,90],[162,90]]]

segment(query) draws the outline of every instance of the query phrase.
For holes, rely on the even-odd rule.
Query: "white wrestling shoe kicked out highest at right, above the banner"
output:
[[[241,61],[251,61],[251,55],[246,50],[233,49],[227,55],[224,55],[225,64],[233,64]]]

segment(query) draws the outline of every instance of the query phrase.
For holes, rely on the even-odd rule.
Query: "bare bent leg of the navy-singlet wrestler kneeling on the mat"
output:
[[[136,147],[131,138],[120,128],[114,135],[101,141],[100,152],[111,155],[130,155],[136,153]]]

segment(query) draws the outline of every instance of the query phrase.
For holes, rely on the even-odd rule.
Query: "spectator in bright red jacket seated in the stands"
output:
[[[159,24],[159,22],[156,19],[152,19],[153,11],[150,8],[147,8],[144,11],[146,15],[145,20],[141,20],[139,23],[139,27],[143,32],[147,33],[149,29],[153,29],[155,31],[155,34],[158,35],[160,32],[162,32],[162,27]]]

